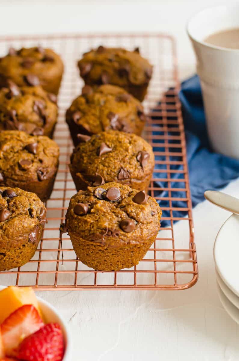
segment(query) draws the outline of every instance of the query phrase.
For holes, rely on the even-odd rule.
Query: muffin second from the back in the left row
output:
[[[53,136],[57,122],[56,95],[41,86],[19,88],[11,80],[0,90],[0,130],[22,130]]]

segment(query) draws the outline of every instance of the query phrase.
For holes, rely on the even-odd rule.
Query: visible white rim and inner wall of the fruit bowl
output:
[[[3,288],[6,288],[5,286],[0,286],[0,290],[3,290]],[[36,296],[39,302],[40,310],[42,311],[42,315],[44,318],[44,321],[46,323],[49,322],[57,322],[61,326],[63,335],[64,335],[64,341],[65,341],[65,353],[62,361],[71,361],[72,357],[72,338],[70,336],[70,331],[68,329],[68,326],[66,325],[65,321],[62,319],[60,314],[57,312],[55,307],[53,307],[51,304],[49,304],[47,301],[43,300],[42,298]]]

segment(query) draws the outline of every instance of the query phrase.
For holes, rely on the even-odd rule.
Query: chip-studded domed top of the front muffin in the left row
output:
[[[20,188],[0,187],[0,247],[16,247],[16,233],[29,232],[29,242],[36,242],[38,225],[46,222],[46,209],[35,193]]]

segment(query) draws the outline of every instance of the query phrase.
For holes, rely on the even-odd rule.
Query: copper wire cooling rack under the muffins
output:
[[[0,38],[0,56],[9,46],[20,48],[38,44],[60,53],[65,64],[54,138],[60,146],[60,167],[51,199],[46,204],[48,224],[35,256],[18,269],[0,272],[0,284],[32,286],[38,290],[182,290],[193,286],[198,277],[196,248],[174,40],[164,34],[11,36]],[[70,197],[76,192],[68,170],[73,146],[64,120],[65,110],[83,86],[77,59],[100,44],[128,49],[140,47],[141,54],[154,65],[144,101],[151,116],[144,136],[154,149],[157,148],[155,155],[160,156],[160,160],[156,160],[159,169],[154,172],[149,194],[164,204],[162,220],[168,221],[144,259],[131,269],[117,272],[99,272],[83,265],[77,260],[68,236],[62,239],[62,264],[59,240],[60,223],[64,221]],[[178,187],[177,182],[180,182]],[[180,207],[178,201],[181,201]],[[177,217],[175,212],[178,211],[183,211],[184,216]]]

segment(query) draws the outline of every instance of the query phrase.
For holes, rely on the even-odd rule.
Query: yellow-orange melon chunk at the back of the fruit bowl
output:
[[[23,305],[33,305],[40,313],[38,300],[31,287],[10,286],[0,291],[0,324]]]

